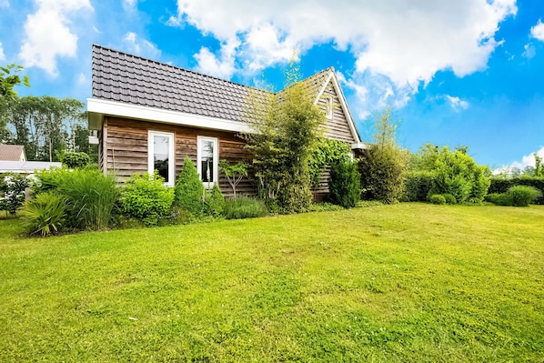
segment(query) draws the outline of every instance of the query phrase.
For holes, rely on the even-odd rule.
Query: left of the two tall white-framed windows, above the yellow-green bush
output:
[[[147,171],[154,170],[166,180],[166,185],[174,187],[174,134],[169,132],[149,131],[147,136]]]

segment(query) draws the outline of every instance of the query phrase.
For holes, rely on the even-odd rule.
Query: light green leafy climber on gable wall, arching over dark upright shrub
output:
[[[327,166],[349,159],[349,152],[348,144],[342,141],[319,138],[308,161],[311,186],[317,187],[319,176]]]

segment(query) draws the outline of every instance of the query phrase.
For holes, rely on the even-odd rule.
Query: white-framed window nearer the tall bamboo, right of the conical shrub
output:
[[[196,137],[196,170],[204,187],[214,187],[218,175],[218,147],[216,137]]]

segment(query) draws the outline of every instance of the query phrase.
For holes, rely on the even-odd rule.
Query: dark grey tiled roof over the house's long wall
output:
[[[93,45],[93,98],[243,122],[247,95],[267,91]]]

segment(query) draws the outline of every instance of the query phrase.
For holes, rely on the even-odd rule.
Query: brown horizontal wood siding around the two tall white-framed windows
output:
[[[149,130],[171,132],[175,135],[176,178],[183,168],[183,160],[189,156],[196,163],[196,136],[217,137],[219,160],[230,163],[249,162],[251,156],[244,149],[244,140],[233,133],[201,128],[172,126],[118,117],[107,117],[106,166],[115,170],[119,181],[125,181],[136,173],[147,171],[147,134]],[[226,176],[219,173],[219,187],[225,197],[231,197],[232,187]],[[255,196],[257,189],[250,177],[237,186],[237,195]]]

